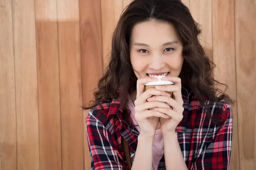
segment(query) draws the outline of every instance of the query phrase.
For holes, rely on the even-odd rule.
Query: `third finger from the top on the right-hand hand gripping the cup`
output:
[[[169,96],[152,96],[147,99],[147,101],[158,101],[158,102],[166,102],[168,105],[172,107],[172,109],[178,113],[183,112],[183,107],[175,100]]]

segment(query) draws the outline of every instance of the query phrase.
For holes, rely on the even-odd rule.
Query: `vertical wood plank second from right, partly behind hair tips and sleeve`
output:
[[[236,100],[236,56],[234,0],[212,1],[213,61],[215,78],[226,85],[227,94]],[[220,86],[222,90],[225,87]],[[233,140],[230,170],[239,170],[237,108],[233,110]]]

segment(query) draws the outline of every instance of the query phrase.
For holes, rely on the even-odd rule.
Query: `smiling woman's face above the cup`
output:
[[[137,78],[152,75],[178,77],[183,64],[183,45],[169,23],[138,23],[131,35],[130,58]]]

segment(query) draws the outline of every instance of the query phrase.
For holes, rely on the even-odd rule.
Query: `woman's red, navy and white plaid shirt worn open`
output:
[[[227,170],[232,142],[232,110],[226,102],[207,102],[211,113],[221,113],[222,125],[215,125],[204,113],[191,91],[182,88],[183,119],[176,127],[180,149],[188,170]],[[102,103],[86,117],[92,170],[127,170],[122,136],[129,144],[131,163],[139,132],[122,119],[120,101]],[[220,110],[221,109],[221,110]],[[165,170],[164,156],[158,170]]]

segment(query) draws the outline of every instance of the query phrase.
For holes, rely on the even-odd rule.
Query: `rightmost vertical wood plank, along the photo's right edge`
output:
[[[240,169],[256,169],[256,0],[236,0],[236,74]]]

